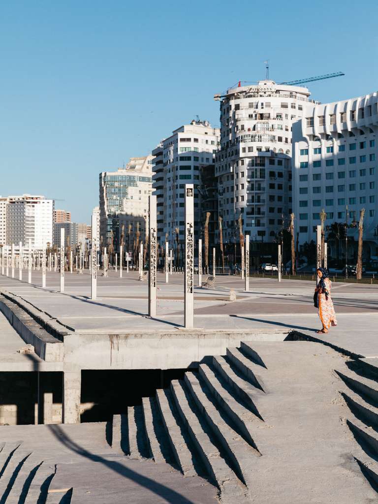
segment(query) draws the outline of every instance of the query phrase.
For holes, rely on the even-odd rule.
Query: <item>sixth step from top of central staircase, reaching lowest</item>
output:
[[[229,500],[232,496],[234,501],[249,498],[246,486],[236,476],[235,472],[221,456],[217,446],[212,443],[209,432],[204,430],[204,424],[200,422],[196,413],[191,408],[185,395],[183,382],[173,380],[170,390],[175,405],[181,417],[181,421],[187,427],[191,440],[196,446],[201,459],[208,471],[210,478],[221,491],[222,498]],[[235,433],[236,434],[236,433]],[[240,500],[241,502],[241,500]]]

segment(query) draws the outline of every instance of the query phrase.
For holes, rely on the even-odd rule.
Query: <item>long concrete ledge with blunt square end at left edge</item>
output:
[[[45,331],[23,308],[10,299],[0,297],[0,310],[25,343],[34,346],[38,357],[47,362],[64,359],[64,344]]]

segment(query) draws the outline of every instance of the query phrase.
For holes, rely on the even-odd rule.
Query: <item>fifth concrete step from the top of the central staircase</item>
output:
[[[257,468],[259,452],[254,446],[248,444],[219,413],[218,409],[209,400],[209,390],[204,383],[198,380],[194,373],[185,373],[185,387],[191,393],[201,415],[206,419],[212,433],[217,439],[222,450],[227,454],[232,470],[238,478],[247,485],[249,478]],[[256,457],[256,458],[255,458]]]

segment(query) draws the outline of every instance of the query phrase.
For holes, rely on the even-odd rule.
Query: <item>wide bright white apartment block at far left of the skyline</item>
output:
[[[53,208],[53,200],[44,196],[9,196],[6,202],[6,243],[12,245],[22,241],[27,245],[31,238],[34,249],[52,244]]]

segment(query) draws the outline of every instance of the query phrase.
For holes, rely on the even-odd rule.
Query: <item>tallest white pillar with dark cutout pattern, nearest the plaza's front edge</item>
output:
[[[213,260],[215,248],[213,249]],[[184,327],[194,327],[194,185],[185,184]],[[213,267],[215,273],[215,266]]]

